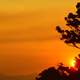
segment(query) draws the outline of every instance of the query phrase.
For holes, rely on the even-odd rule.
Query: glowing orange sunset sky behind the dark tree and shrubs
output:
[[[79,0],[0,0],[0,74],[26,75],[63,62],[79,49],[59,40],[56,25]]]

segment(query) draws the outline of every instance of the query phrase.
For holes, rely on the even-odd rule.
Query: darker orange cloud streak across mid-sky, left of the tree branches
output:
[[[50,31],[50,28],[30,28],[27,30],[7,32],[0,34],[0,43],[5,42],[28,42],[28,41],[46,41],[55,40],[56,35]]]

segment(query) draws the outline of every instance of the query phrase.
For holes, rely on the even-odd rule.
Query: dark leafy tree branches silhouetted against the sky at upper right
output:
[[[69,13],[65,17],[66,27],[68,29],[62,29],[60,26],[56,26],[56,30],[61,34],[61,40],[66,44],[72,44],[74,47],[79,48],[77,44],[80,44],[80,3],[76,5],[76,13]]]

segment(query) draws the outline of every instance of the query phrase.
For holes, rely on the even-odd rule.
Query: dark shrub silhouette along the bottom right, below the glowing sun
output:
[[[80,60],[80,57],[76,58]],[[80,63],[77,62],[78,60],[75,60],[74,67],[66,67],[60,63],[58,67],[45,69],[36,77],[36,80],[80,80]]]

